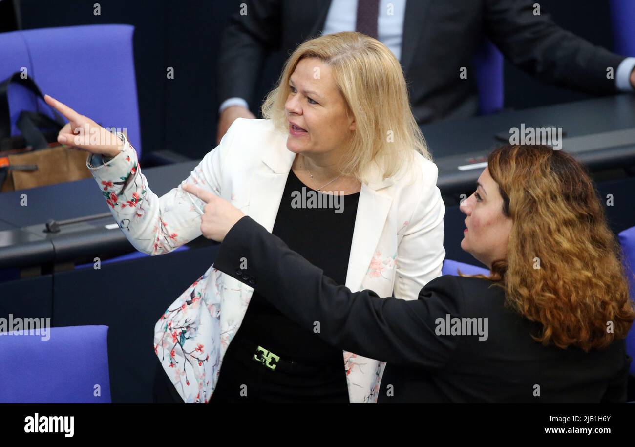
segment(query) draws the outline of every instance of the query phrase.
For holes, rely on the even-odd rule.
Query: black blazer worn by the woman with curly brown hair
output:
[[[545,347],[530,337],[537,326],[506,309],[504,292],[486,279],[441,276],[413,301],[351,292],[250,217],[229,231],[214,267],[253,286],[307,331],[319,321],[317,335],[335,347],[386,361],[379,402],[626,399],[631,357],[624,340],[588,353]],[[442,335],[448,316],[481,318],[484,339],[452,335],[451,326]]]

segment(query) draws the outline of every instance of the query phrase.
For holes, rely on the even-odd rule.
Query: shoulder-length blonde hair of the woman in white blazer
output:
[[[383,180],[410,168],[415,152],[432,159],[412,115],[399,61],[384,44],[359,32],[309,39],[293,51],[262,105],[262,116],[278,130],[288,131],[284,104],[290,93],[289,79],[304,58],[330,65],[347,115],[355,117],[356,131],[340,165],[344,175],[368,182],[375,168]]]

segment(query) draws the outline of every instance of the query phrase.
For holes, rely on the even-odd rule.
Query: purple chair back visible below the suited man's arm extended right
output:
[[[504,102],[503,55],[488,39],[476,51],[476,87],[479,114],[488,115],[502,110]]]

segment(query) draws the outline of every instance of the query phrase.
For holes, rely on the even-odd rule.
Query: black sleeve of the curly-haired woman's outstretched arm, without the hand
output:
[[[460,317],[463,292],[455,277],[432,280],[413,301],[352,292],[250,217],[231,227],[214,267],[239,281],[253,280],[261,295],[300,326],[365,357],[438,369],[458,344],[458,337],[436,333],[439,318]]]

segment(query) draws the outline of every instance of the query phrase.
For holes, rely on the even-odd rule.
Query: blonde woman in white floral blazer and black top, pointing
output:
[[[162,197],[124,135],[83,144],[71,130],[98,125],[47,100],[70,120],[60,142],[92,153],[87,166],[137,250],[160,255],[201,236],[206,205],[187,184],[230,201],[351,290],[413,300],[441,274],[438,171],[401,66],[371,37],[342,32],[300,44],[263,105],[266,119],[237,119]],[[234,273],[244,282],[211,265],[157,322],[154,350],[182,400],[377,400],[383,363],[343,353],[314,337],[319,321],[298,326],[268,304],[248,259]]]

